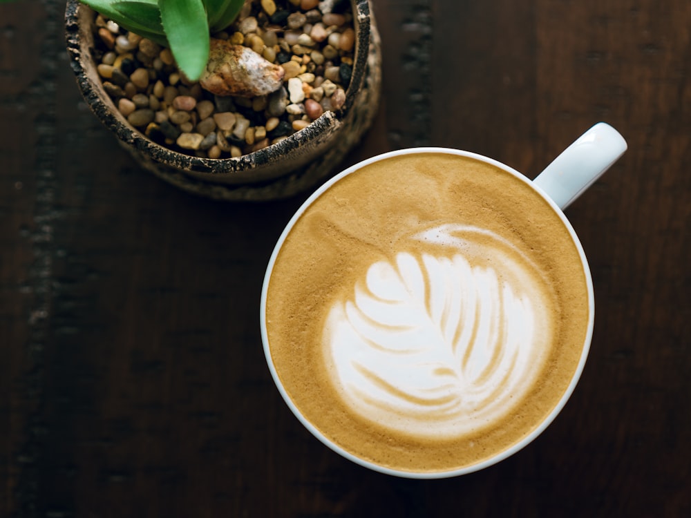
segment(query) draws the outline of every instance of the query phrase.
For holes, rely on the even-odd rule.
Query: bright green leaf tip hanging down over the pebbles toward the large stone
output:
[[[202,0],[158,0],[161,21],[178,68],[198,81],[209,60],[209,25]]]

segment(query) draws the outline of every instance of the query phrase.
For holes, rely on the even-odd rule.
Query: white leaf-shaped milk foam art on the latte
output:
[[[335,300],[323,346],[343,401],[365,419],[457,437],[520,403],[551,342],[538,267],[484,229],[439,225],[372,264]]]

